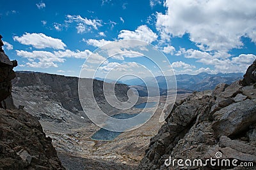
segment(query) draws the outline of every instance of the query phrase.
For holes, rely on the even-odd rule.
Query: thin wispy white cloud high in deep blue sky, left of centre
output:
[[[67,23],[72,23],[76,22],[77,23],[77,33],[83,33],[86,31],[91,31],[92,29],[98,30],[98,27],[102,26],[101,20],[91,20],[88,18],[83,18],[80,15],[67,15],[66,22]]]

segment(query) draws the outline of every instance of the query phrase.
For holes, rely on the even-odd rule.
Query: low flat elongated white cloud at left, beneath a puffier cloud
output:
[[[58,67],[59,62],[65,62],[65,58],[74,57],[77,59],[86,59],[92,53],[89,50],[84,50],[83,52],[77,50],[72,52],[70,50],[47,52],[47,51],[33,51],[28,52],[24,50],[16,50],[16,53],[20,57],[28,59],[29,62],[26,63],[28,67]]]

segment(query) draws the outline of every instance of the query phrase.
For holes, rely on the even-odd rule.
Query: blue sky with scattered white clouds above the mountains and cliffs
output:
[[[255,9],[254,0],[1,0],[0,34],[16,71],[79,76],[102,61],[92,55],[100,46],[137,39],[166,56],[165,74],[245,73],[256,59]],[[124,55],[99,70],[148,76],[142,67],[155,66]]]

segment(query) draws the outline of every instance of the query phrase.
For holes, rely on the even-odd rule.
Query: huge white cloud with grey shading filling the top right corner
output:
[[[241,36],[256,43],[256,3],[248,0],[166,0],[168,10],[157,13],[156,27],[161,38],[188,33],[200,50],[228,52],[241,48]]]

